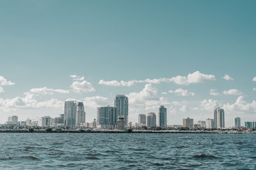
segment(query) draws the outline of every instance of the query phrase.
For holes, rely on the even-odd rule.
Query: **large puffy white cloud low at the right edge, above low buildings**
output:
[[[224,104],[224,110],[236,113],[244,111],[246,111],[246,113],[256,112],[256,101],[252,101],[252,103],[247,103],[246,101],[244,101],[244,97],[245,96],[237,97],[237,100],[234,104]]]

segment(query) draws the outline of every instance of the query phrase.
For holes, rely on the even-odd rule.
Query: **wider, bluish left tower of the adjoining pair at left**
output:
[[[76,129],[76,101],[65,101],[64,126]]]

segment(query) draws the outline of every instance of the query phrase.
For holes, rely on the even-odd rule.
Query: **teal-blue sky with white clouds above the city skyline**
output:
[[[129,121],[256,120],[256,1],[0,1],[0,123],[129,97]]]

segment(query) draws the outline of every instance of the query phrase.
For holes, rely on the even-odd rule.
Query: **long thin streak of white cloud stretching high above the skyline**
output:
[[[191,83],[204,83],[206,81],[215,81],[216,78],[212,74],[203,74],[199,71],[195,71],[194,73],[189,73],[188,76],[175,76],[172,78],[154,78],[154,79],[146,79],[146,80],[129,80],[129,81],[105,81],[100,80],[100,85],[109,85],[109,86],[126,86],[131,87],[135,83],[151,83],[151,84],[158,84],[161,82],[174,82],[179,85],[189,85]]]

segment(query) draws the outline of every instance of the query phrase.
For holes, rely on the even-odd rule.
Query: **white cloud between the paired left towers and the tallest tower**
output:
[[[101,96],[85,97],[84,105],[95,109],[100,106],[106,106],[108,104],[107,101],[108,98]]]

